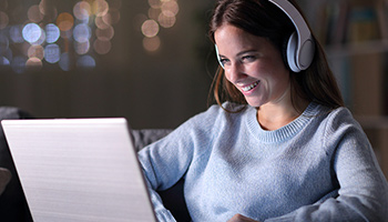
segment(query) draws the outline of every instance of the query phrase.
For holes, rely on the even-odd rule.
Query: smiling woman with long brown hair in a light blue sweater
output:
[[[272,1],[217,2],[218,105],[139,153],[160,221],[174,219],[155,190],[182,178],[193,221],[387,221],[387,180],[320,46],[300,70],[283,53],[295,29]]]

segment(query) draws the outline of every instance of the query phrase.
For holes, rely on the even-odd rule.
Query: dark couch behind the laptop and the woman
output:
[[[0,121],[4,119],[31,119],[28,112],[13,107],[0,107]],[[145,145],[165,137],[170,129],[131,130],[131,135],[139,151]],[[183,198],[183,180],[166,191],[159,191],[164,205],[177,221],[191,221]],[[0,128],[0,221],[32,221],[25,196],[16,171],[2,128]]]

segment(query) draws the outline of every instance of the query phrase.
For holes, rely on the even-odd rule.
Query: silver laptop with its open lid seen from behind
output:
[[[1,124],[33,221],[156,221],[125,119]]]

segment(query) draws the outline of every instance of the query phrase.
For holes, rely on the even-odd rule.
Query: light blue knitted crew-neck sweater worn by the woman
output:
[[[228,103],[225,105],[229,105]],[[194,222],[388,221],[388,184],[360,125],[345,108],[310,103],[265,131],[256,109],[211,107],[139,153],[160,221],[175,221],[155,190],[185,178]]]

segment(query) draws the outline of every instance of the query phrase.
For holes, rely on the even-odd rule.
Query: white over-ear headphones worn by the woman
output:
[[[288,39],[286,48],[286,57],[288,67],[294,72],[306,70],[313,62],[315,53],[315,41],[308,29],[306,21],[299,11],[288,0],[268,0],[269,2],[282,9],[293,21],[296,31]],[[215,46],[218,62],[221,67],[221,58],[217,46]]]

